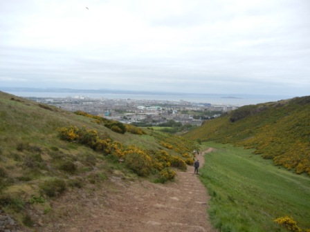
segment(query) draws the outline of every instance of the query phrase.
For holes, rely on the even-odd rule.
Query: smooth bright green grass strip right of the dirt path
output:
[[[287,231],[276,218],[291,216],[310,228],[310,177],[229,144],[203,143],[201,181],[211,196],[210,220],[220,231]],[[202,150],[202,149],[201,149]]]

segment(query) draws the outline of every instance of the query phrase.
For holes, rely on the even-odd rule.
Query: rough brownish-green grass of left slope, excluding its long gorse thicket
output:
[[[86,146],[61,140],[57,128],[70,125],[85,126],[100,136],[108,135],[124,148],[135,144],[147,150],[164,150],[171,155],[181,155],[197,148],[182,137],[147,129],[147,135],[115,133],[88,117],[0,92],[0,206],[6,211],[17,213],[17,216],[25,215],[26,203],[33,195],[42,194],[39,186],[46,180],[57,178],[75,188],[107,180],[109,175],[115,175],[113,171],[116,169],[125,178],[137,177],[124,164],[113,163]],[[182,151],[167,149],[160,144],[167,141],[174,147],[182,144]],[[64,165],[72,163],[77,171],[65,171],[70,166]],[[50,200],[53,199],[48,202]],[[47,208],[50,207],[48,204]]]

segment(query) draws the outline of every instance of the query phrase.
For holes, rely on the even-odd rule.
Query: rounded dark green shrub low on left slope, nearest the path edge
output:
[[[60,179],[46,180],[39,188],[48,197],[56,197],[66,190],[66,182]]]

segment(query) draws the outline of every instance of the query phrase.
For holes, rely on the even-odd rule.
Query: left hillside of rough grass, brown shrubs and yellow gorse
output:
[[[31,226],[34,212],[53,211],[63,193],[113,191],[116,177],[173,180],[197,148],[183,137],[0,92],[0,209]]]

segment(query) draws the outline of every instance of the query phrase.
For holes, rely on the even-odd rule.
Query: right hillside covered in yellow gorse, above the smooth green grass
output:
[[[243,106],[183,136],[255,148],[275,165],[310,175],[310,96]]]

